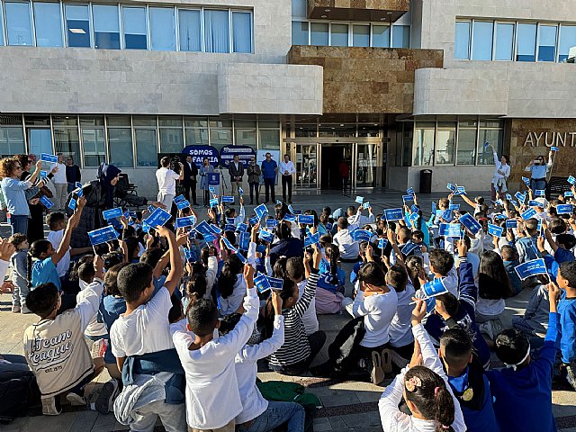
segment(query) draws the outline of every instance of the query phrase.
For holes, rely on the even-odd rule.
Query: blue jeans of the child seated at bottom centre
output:
[[[266,432],[287,422],[287,432],[303,432],[306,413],[294,402],[269,401],[268,408],[256,419],[237,426],[239,432]]]

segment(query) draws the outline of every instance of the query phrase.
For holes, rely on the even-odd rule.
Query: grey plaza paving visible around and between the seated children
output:
[[[362,193],[358,193],[362,194]],[[471,195],[474,193],[471,192]],[[484,193],[486,196],[487,193]],[[374,207],[374,213],[381,212],[385,207],[398,207],[401,205],[401,193],[370,193],[365,194],[365,201],[370,201]],[[437,199],[439,193],[419,196],[419,203],[422,209],[429,214],[430,202]],[[313,208],[320,211],[323,206],[329,205],[332,210],[338,207],[347,207],[354,203],[356,195],[343,195],[342,193],[322,193],[314,195],[295,195],[294,207],[296,209]],[[464,208],[464,206],[463,206]],[[202,210],[202,209],[201,209]],[[247,213],[251,211],[248,209]],[[2,237],[6,233],[6,227],[2,227]],[[347,293],[351,290],[347,286]],[[518,296],[507,302],[505,312],[505,324],[509,326],[511,317],[523,313],[529,291],[518,294]],[[10,296],[4,294],[0,296],[0,353],[22,354],[23,329],[33,322],[34,316],[14,314],[10,311]],[[320,356],[314,365],[320,364],[327,359],[326,351],[329,343],[335,338],[345,322],[347,315],[324,315],[319,317],[320,329],[327,333],[328,340]],[[495,358],[493,356],[493,358]],[[322,403],[321,408],[316,413],[314,420],[314,430],[323,431],[380,431],[380,416],[378,414],[378,400],[383,387],[375,386],[371,383],[360,383],[355,381],[335,382],[326,379],[313,378],[311,375],[305,377],[286,377],[274,373],[258,374],[262,381],[269,380],[290,380],[302,383],[308,391],[315,393]],[[383,384],[391,383],[392,376]],[[87,394],[98,391],[102,383],[108,380],[107,374],[102,374],[97,382],[91,383],[87,389]],[[559,430],[562,432],[576,432],[576,393],[567,390],[563,384],[554,384],[553,392],[554,416]],[[518,407],[518,414],[521,415],[521,407]],[[30,416],[23,419],[16,419],[10,425],[0,425],[2,432],[32,432],[41,430],[42,432],[106,432],[128,430],[127,427],[116,421],[113,414],[101,415],[95,411],[84,408],[77,409],[70,406],[63,407],[63,413],[58,417],[44,417],[39,410],[31,410]],[[164,431],[158,424],[157,431]]]

